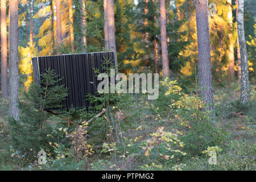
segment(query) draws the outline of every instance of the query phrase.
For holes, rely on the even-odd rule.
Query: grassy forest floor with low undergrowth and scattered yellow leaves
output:
[[[154,141],[156,134],[166,133],[163,131],[186,135],[187,129],[181,129],[177,122],[177,115],[171,113],[170,102],[162,93],[159,99],[148,101],[143,94],[131,97],[129,109],[119,108],[121,117],[118,121],[119,142],[110,142],[104,137],[104,130],[97,129],[101,125],[90,123],[88,143],[93,146],[93,155],[88,155],[86,160],[79,164],[75,162],[73,156],[68,156],[67,160],[51,158],[53,162],[44,165],[36,165],[23,159],[22,154],[14,154],[10,150],[10,126],[6,119],[6,104],[0,105],[0,170],[256,170],[255,154],[255,85],[252,86],[252,94],[249,105],[243,106],[237,99],[240,90],[236,84],[226,88],[214,88],[214,109],[216,111],[217,129],[225,134],[225,140],[218,147],[222,151],[217,151],[217,164],[209,164],[209,156],[202,154],[200,149],[193,146],[186,149],[186,155],[168,154],[166,148],[168,142],[174,139],[174,144],[179,144],[179,140],[169,138],[159,140],[150,146],[147,142]],[[162,94],[162,95],[161,95]],[[118,109],[118,110],[119,110]],[[52,119],[56,119],[53,117]],[[73,120],[75,116],[73,114]],[[78,118],[77,121],[80,121]],[[56,121],[58,122],[58,121]],[[60,121],[64,122],[64,121]],[[162,127],[162,130],[159,128]],[[96,128],[96,130],[95,130]],[[108,136],[110,134],[107,134]],[[168,137],[168,136],[167,136]],[[193,136],[192,136],[193,137]],[[179,138],[182,142],[185,138]],[[156,139],[157,140],[157,139]],[[164,141],[167,141],[164,142]],[[176,143],[175,143],[176,142]],[[147,154],[147,147],[150,154]],[[105,146],[104,146],[105,145]],[[196,142],[195,142],[196,145]],[[167,146],[167,147],[166,147]],[[172,146],[172,145],[171,145]],[[163,148],[161,148],[163,147]],[[200,147],[200,144],[199,144]],[[212,147],[212,146],[210,146]],[[182,147],[175,150],[183,151]],[[191,150],[191,151],[189,151]],[[207,150],[207,148],[204,148]],[[17,153],[17,151],[16,151]],[[18,152],[19,153],[19,152]],[[177,151],[179,153],[179,151]]]

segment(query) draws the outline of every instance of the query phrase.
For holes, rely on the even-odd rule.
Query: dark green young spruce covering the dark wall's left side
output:
[[[49,69],[43,73],[40,80],[44,86],[32,83],[19,101],[19,122],[9,119],[13,147],[30,159],[40,148],[46,150],[50,147],[47,135],[52,132],[52,127],[47,124],[50,116],[46,110],[60,108],[67,97],[67,89],[57,84],[58,77]]]

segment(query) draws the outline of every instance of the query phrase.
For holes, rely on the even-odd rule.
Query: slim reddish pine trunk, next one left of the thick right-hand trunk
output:
[[[165,0],[160,0],[160,32],[161,32],[161,48],[163,61],[163,77],[170,76],[167,38],[166,38],[166,4]]]

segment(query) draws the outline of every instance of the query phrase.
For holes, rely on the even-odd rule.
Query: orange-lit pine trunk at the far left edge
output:
[[[1,92],[8,98],[6,0],[1,0]]]

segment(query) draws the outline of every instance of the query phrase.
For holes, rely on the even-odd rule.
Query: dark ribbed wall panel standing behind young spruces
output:
[[[85,97],[88,93],[96,95],[97,85],[100,82],[97,81],[93,68],[103,73],[101,65],[105,59],[112,61],[113,64],[116,63],[114,52],[34,57],[32,63],[35,82],[40,84],[39,75],[46,69],[54,69],[55,73],[63,78],[59,85],[68,88],[68,97],[63,102],[63,109],[88,107],[90,104]]]

